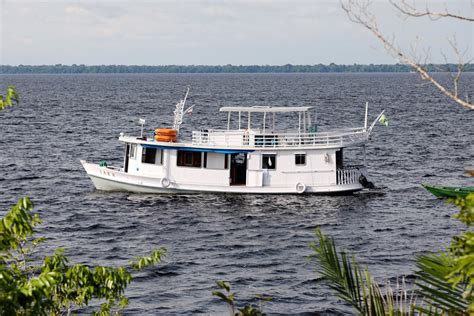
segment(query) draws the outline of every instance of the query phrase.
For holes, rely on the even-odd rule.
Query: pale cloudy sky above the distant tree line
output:
[[[410,3],[414,0],[408,0]],[[473,16],[471,0],[419,8]],[[473,57],[474,23],[404,18],[387,1],[381,31],[428,61],[456,62],[448,38]],[[337,0],[0,0],[0,64],[283,65],[395,63]]]

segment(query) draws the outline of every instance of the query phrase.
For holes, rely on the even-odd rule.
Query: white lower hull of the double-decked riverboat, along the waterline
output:
[[[298,194],[298,193],[326,193],[344,194],[362,190],[360,183],[328,186],[248,186],[248,185],[198,185],[162,181],[162,178],[151,178],[124,173],[118,169],[100,167],[97,164],[81,163],[91,178],[95,188],[102,191],[128,191],[137,193],[251,193],[251,194]],[[164,187],[164,185],[167,187]]]

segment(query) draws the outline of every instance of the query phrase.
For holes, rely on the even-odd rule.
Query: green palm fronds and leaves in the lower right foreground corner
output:
[[[474,223],[474,194],[450,200],[460,208],[455,218]],[[450,247],[438,253],[416,257],[415,289],[403,284],[381,290],[367,269],[353,256],[338,252],[332,238],[319,229],[310,244],[317,270],[338,297],[361,315],[472,315],[474,314],[474,233],[468,230],[453,237]]]

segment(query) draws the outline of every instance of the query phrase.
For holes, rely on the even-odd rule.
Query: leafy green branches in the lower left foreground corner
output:
[[[32,254],[44,238],[33,238],[40,223],[24,197],[0,221],[0,315],[58,315],[92,300],[102,301],[97,314],[108,315],[128,304],[124,291],[132,272],[159,263],[166,250],[131,261],[127,267],[69,264],[63,249],[35,264]]]

